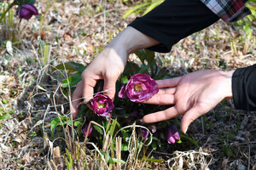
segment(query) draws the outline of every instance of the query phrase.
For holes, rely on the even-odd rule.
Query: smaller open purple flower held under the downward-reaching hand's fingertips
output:
[[[98,116],[108,116],[113,111],[113,102],[107,95],[96,94],[89,102],[90,110]]]

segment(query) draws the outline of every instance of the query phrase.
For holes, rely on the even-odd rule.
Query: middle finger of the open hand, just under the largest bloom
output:
[[[173,105],[174,96],[171,94],[154,94],[152,98],[144,101],[143,103],[152,105]]]

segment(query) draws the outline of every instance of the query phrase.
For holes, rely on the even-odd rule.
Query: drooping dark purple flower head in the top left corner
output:
[[[18,16],[20,19],[31,19],[32,15],[38,15],[38,9],[32,4],[25,4],[20,7],[18,11]]]

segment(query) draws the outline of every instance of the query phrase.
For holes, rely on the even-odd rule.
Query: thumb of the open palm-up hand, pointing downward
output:
[[[203,114],[204,113],[196,105],[195,105],[195,107],[192,107],[189,111],[187,111],[183,115],[183,118],[182,118],[182,121],[181,121],[181,131],[183,133],[186,133],[190,123],[194,122],[195,119],[202,116]]]

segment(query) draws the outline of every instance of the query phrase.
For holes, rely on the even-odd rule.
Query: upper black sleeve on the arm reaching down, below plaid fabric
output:
[[[160,42],[148,49],[167,53],[173,44],[217,20],[218,16],[200,0],[166,0],[129,26]]]

